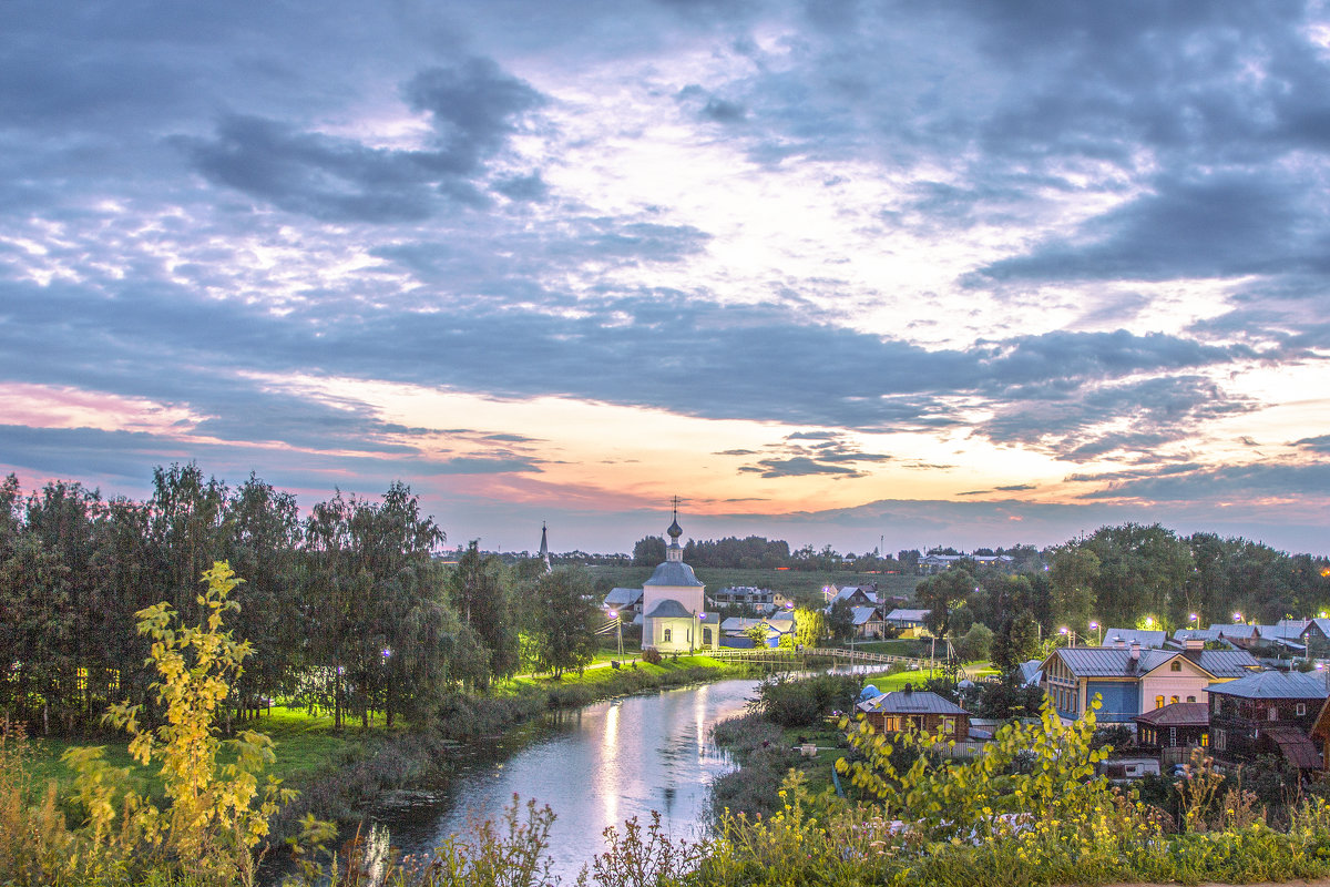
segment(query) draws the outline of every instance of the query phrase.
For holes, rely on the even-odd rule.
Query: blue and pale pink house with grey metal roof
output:
[[[1057,714],[1075,721],[1097,694],[1101,723],[1134,726],[1133,718],[1173,702],[1205,702],[1208,690],[1260,668],[1242,650],[1205,650],[1189,641],[1185,650],[1152,650],[1127,646],[1059,648],[1044,660],[1044,693]]]

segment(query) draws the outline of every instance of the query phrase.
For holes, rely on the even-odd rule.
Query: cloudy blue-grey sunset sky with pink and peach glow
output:
[[[0,472],[1330,553],[1322,3],[7,0]]]

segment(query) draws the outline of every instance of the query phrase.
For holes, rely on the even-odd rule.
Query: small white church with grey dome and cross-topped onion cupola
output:
[[[720,616],[706,612],[705,585],[684,563],[678,537],[678,499],[674,500],[674,523],[669,533],[665,563],[642,582],[642,649],[661,653],[692,653],[721,649]]]

